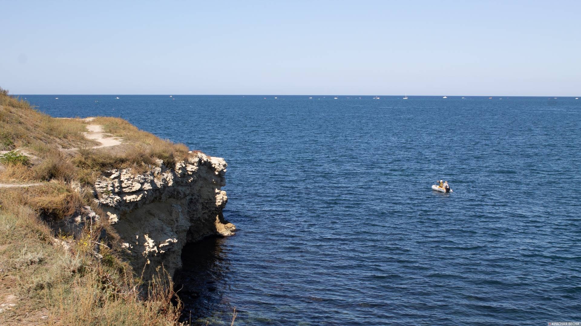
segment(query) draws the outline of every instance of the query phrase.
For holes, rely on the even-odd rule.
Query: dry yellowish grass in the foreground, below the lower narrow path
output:
[[[34,195],[50,207],[62,191],[40,187]],[[70,249],[64,250],[53,245],[52,231],[29,200],[20,190],[0,191],[0,299],[17,296],[17,306],[0,314],[0,324],[177,324],[181,306],[171,302],[174,291],[163,270],[145,285],[144,300],[140,281],[114,249],[114,234],[99,240],[101,226],[94,225],[81,239],[67,241]],[[98,249],[102,259],[93,254]]]

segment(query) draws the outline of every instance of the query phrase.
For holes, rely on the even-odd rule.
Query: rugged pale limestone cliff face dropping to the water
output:
[[[145,173],[113,169],[95,184],[99,207],[123,239],[122,247],[144,277],[162,266],[171,275],[181,267],[182,248],[203,237],[230,236],[224,220],[228,197],[226,162],[202,153],[167,167],[161,160]]]

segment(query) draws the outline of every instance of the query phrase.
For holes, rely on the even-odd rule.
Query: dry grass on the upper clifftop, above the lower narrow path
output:
[[[173,166],[188,157],[189,148],[184,144],[159,139],[124,119],[98,117],[90,123],[102,125],[110,135],[123,137],[124,146],[120,148],[125,150],[89,149],[96,143],[83,135],[87,121],[49,117],[0,88],[0,150],[24,148],[39,158],[28,169],[28,164],[6,168],[0,173],[0,180],[92,183],[109,169],[132,168],[134,173],[140,173],[156,164],[157,159]],[[63,154],[62,149],[67,148],[81,149]]]

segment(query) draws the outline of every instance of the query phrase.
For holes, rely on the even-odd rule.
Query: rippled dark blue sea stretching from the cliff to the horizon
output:
[[[581,321],[581,100],[116,96],[23,95],[228,162],[238,232],[184,252],[186,320]]]

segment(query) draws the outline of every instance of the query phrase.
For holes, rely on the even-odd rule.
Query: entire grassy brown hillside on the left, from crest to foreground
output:
[[[119,118],[90,124],[123,143],[91,148],[96,142],[85,138],[87,124],[49,117],[0,89],[0,325],[177,323],[180,305],[171,302],[170,278],[160,271],[144,284],[123,260],[107,223],[92,223],[73,237],[44,220],[67,218],[83,207],[103,216],[83,184],[113,167],[144,169],[157,159],[172,164],[188,148]]]

